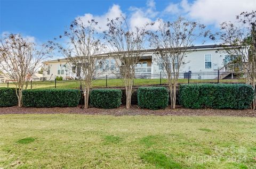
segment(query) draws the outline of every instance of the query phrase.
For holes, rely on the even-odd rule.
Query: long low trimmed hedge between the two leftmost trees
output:
[[[76,107],[81,99],[76,89],[28,89],[22,95],[24,107]]]

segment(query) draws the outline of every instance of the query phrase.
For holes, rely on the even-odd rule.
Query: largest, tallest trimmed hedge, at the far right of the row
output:
[[[254,91],[245,84],[183,84],[179,102],[186,108],[249,108]]]

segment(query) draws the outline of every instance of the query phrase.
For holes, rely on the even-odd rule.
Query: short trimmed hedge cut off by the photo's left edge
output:
[[[0,88],[0,107],[18,105],[18,97],[15,88]]]

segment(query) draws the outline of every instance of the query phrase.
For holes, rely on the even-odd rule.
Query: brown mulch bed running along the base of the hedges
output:
[[[137,105],[132,105],[130,109],[121,106],[115,109],[101,109],[88,108],[84,109],[78,107],[54,107],[54,108],[25,108],[25,107],[2,107],[0,114],[55,114],[55,113],[69,113],[69,114],[101,114],[101,115],[180,115],[180,116],[242,116],[242,117],[256,117],[256,111],[252,109],[188,109],[177,107],[176,109],[161,109],[152,111],[149,109],[141,109]]]

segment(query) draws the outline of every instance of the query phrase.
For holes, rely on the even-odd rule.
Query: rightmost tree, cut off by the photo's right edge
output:
[[[220,32],[211,35],[213,40],[221,40],[230,57],[238,57],[242,65],[246,83],[256,90],[256,11],[242,12],[235,22],[223,22]],[[256,97],[256,94],[255,94]],[[254,99],[252,108],[256,108]]]

